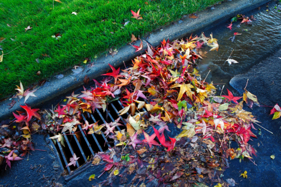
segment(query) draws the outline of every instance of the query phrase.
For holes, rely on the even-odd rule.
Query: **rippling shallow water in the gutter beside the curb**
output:
[[[245,73],[254,64],[270,57],[272,53],[280,49],[281,12],[278,9],[281,9],[281,5],[271,2],[268,4],[268,7],[263,5],[260,10],[256,9],[245,14],[249,18],[253,15],[256,19],[256,21],[252,20],[252,25],[240,24],[242,20],[239,19],[233,23],[231,31],[227,28],[231,20],[229,18],[229,22],[224,25],[222,24],[216,29],[205,31],[207,37],[210,37],[212,32],[213,37],[218,39],[219,50],[218,52],[209,52],[210,47],[204,47],[203,51],[208,50],[206,55],[208,58],[204,58],[204,60],[198,63],[201,74],[206,76],[209,69],[212,69],[213,66],[218,66],[222,71],[231,76]],[[242,33],[242,35],[237,35],[235,41],[232,42],[229,40],[229,37],[233,36],[234,32]],[[239,63],[230,65],[226,62],[230,54],[230,59],[234,59]],[[211,77],[216,76],[212,75],[211,72],[208,75],[209,80],[212,80]]]

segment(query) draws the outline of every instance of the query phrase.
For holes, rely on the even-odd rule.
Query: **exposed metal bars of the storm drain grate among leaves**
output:
[[[95,109],[93,114],[85,112],[81,116],[84,122],[87,120],[89,124],[98,122],[98,125],[105,123],[115,122],[118,116],[118,111],[120,111],[124,106],[118,101],[113,101],[107,105],[105,112]],[[124,116],[128,116],[125,114]],[[124,126],[116,126],[114,130],[122,130],[126,128],[126,122],[121,117],[120,123],[123,123]],[[94,156],[98,152],[106,152],[108,148],[113,146],[113,140],[105,137],[105,134],[87,134],[89,130],[82,130],[81,126],[78,125],[76,132],[64,132],[65,138],[65,147],[61,145],[60,142],[56,140],[56,144],[52,141],[51,144],[57,150],[57,157],[59,157],[59,164],[63,170],[65,170],[69,175],[65,176],[65,180],[70,180],[76,174],[84,171],[86,168],[91,166],[90,162],[87,162],[88,158]],[[105,131],[105,130],[102,130]],[[48,135],[48,138],[50,136]],[[75,154],[77,157],[80,157],[76,161],[76,166],[66,165],[70,162],[70,157]]]

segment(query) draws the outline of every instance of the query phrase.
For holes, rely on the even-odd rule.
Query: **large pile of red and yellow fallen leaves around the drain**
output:
[[[212,34],[163,40],[157,49],[148,46],[145,54],[121,72],[110,65],[112,72],[105,74],[107,78],[94,80],[95,86],[82,94],[71,94],[66,105],[44,111],[22,106],[26,112],[14,114],[13,122],[26,132],[39,124],[63,146],[65,132],[77,135],[78,125],[85,135],[104,134],[112,140],[112,149],[92,158],[93,164],[103,160],[105,171],[110,173],[104,185],[112,185],[116,178],[124,184],[132,173],[136,174],[132,183],[138,180],[142,186],[148,182],[179,186],[221,182],[219,177],[229,167],[228,158],[251,160],[255,155],[248,141],[256,137],[251,128],[257,121],[243,110],[243,102],[249,107],[258,102],[246,90],[241,102],[238,100],[242,97],[230,91],[228,95],[216,95],[215,87],[206,83],[196,69],[196,62],[206,58],[204,46],[210,46],[210,51],[219,47]],[[88,114],[95,115],[98,109],[107,116],[108,104],[117,100],[123,108],[115,122],[89,123]],[[4,141],[1,139],[2,147],[8,147]],[[231,148],[231,142],[237,142],[239,148]],[[9,155],[19,149],[9,146]],[[77,159],[74,154],[68,166]]]

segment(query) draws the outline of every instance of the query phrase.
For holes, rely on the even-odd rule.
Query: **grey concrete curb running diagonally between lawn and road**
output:
[[[268,1],[270,0],[233,0],[217,5],[215,10],[207,9],[200,11],[197,13],[199,18],[196,20],[187,17],[184,18],[181,23],[175,22],[175,24],[163,28],[163,31],[158,30],[151,33],[148,35],[148,37],[146,37],[146,39],[142,39],[143,49],[147,49],[147,44],[145,41],[156,47],[160,45],[160,42],[164,38],[166,40],[169,38],[172,41],[178,38],[186,37],[188,34],[202,30],[203,28],[210,29],[222,22],[225,22],[227,19],[230,19],[238,13],[252,10]],[[140,45],[140,41],[136,42],[135,45]],[[56,77],[51,78],[48,81],[49,83],[45,84],[48,86],[40,87],[35,92],[37,97],[30,97],[26,103],[34,108],[46,101],[53,99],[54,97],[66,94],[67,92],[82,86],[84,84],[83,79],[85,75],[87,75],[90,80],[96,79],[98,76],[106,72],[106,70],[109,68],[108,63],[118,67],[124,62],[130,62],[131,59],[140,55],[140,53],[135,53],[135,49],[130,45],[126,45],[120,48],[118,51],[118,54],[114,57],[107,56],[98,58],[93,67],[85,67],[78,74],[73,73],[72,70],[68,70],[63,73],[64,77],[61,79],[57,79]],[[22,108],[20,105],[24,105],[23,98],[19,101],[16,99],[14,106],[9,109],[10,106],[7,104],[10,102],[11,100],[5,100],[0,103],[0,121],[11,117],[13,111],[21,110]]]

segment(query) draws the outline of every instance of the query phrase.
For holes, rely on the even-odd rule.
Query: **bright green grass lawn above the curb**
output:
[[[4,55],[0,62],[0,97],[14,93],[19,81],[27,87],[81,63],[84,58],[126,45],[131,33],[141,36],[219,0],[61,1],[54,2],[54,9],[52,0],[0,2],[0,37],[6,38],[0,43],[3,53],[24,44]],[[131,10],[137,12],[139,8],[143,19],[131,18]],[[124,27],[122,23],[126,21],[130,23]],[[32,29],[25,32],[28,26]],[[51,37],[57,33],[62,34],[59,40]],[[37,71],[41,71],[39,76]]]

